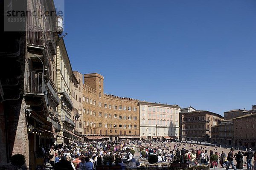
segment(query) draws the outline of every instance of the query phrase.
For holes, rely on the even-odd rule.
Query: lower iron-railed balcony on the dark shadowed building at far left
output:
[[[26,105],[30,105],[33,111],[46,118],[49,102],[43,74],[41,72],[25,71],[24,77]]]

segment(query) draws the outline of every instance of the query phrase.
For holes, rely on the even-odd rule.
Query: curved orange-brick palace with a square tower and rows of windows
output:
[[[84,74],[83,125],[86,139],[138,139],[138,99],[104,94],[104,77]]]

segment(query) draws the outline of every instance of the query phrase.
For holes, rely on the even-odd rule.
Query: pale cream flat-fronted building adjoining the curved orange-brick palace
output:
[[[178,140],[180,106],[139,102],[140,136],[143,139]]]

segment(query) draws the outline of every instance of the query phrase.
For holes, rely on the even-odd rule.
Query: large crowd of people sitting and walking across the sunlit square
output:
[[[132,146],[131,146],[132,145]],[[129,145],[126,142],[111,142],[111,141],[92,141],[92,142],[73,142],[69,144],[49,145],[45,149],[42,145],[39,147],[44,154],[44,164],[51,164],[55,169],[61,169],[62,166],[69,167],[70,170],[81,168],[87,170],[88,167],[96,165],[111,165],[119,164],[123,166],[123,159],[126,161],[134,161],[135,150],[133,147],[140,146],[140,158],[147,159],[149,155],[155,154],[158,156],[159,162],[172,163],[192,163],[192,164],[211,164],[215,167],[230,167],[243,169],[244,158],[246,157],[247,169],[252,170],[252,162],[256,164],[256,152],[251,149],[247,152],[238,151],[234,153],[234,148],[231,148],[229,153],[222,151],[218,153],[215,148],[209,150],[209,147],[198,147],[196,144],[175,143],[170,147],[170,142],[151,142],[148,144],[136,141]],[[181,147],[181,148],[180,148]],[[216,160],[211,160],[211,156],[216,155]],[[139,155],[138,155],[139,156]],[[254,157],[254,159],[253,159]],[[233,160],[236,160],[236,166]],[[139,163],[137,162],[139,165]],[[256,170],[256,168],[254,169]]]

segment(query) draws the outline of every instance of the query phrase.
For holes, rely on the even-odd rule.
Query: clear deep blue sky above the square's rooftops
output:
[[[256,0],[66,0],[73,70],[107,94],[223,115],[256,104]]]

